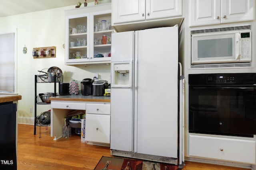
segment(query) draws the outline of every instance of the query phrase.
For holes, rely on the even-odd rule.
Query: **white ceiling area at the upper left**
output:
[[[84,6],[85,0],[0,0],[0,17],[72,5],[75,8],[78,2]],[[86,2],[94,2],[94,0],[86,0]]]

